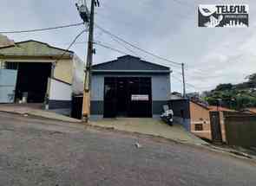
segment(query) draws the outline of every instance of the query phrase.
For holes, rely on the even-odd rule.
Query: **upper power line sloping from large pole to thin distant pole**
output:
[[[139,47],[135,46],[135,44],[132,44],[132,43],[130,43],[130,42],[127,42],[127,41],[121,39],[121,37],[112,34],[111,32],[109,32],[109,31],[106,30],[106,29],[103,29],[103,28],[100,27],[99,25],[96,25],[96,24],[95,24],[95,26],[96,26],[98,29],[101,29],[104,33],[106,33],[106,34],[108,34],[108,35],[111,35],[111,36],[115,37],[116,39],[120,40],[121,42],[124,42],[124,43],[128,44],[129,46],[131,46],[131,47],[133,47],[133,48],[136,48],[136,49],[138,49],[138,50],[141,50],[142,52],[144,52],[144,53],[146,53],[146,54],[148,54],[148,55],[152,55],[152,56],[154,56],[155,58],[158,58],[158,59],[160,59],[160,60],[162,60],[162,61],[167,61],[167,62],[170,62],[170,63],[172,63],[172,64],[181,66],[181,63],[179,63],[179,62],[170,61],[170,60],[168,60],[168,59],[166,59],[166,58],[161,57],[160,55],[154,55],[153,53],[148,52],[148,51],[145,50],[145,49],[142,49],[142,48],[139,48]]]

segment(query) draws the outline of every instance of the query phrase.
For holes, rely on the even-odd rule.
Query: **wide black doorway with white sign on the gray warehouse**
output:
[[[104,118],[152,118],[151,78],[107,77],[104,82]]]

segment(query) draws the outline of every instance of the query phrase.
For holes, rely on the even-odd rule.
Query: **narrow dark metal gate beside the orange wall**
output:
[[[211,131],[213,143],[222,143],[220,112],[210,112]]]

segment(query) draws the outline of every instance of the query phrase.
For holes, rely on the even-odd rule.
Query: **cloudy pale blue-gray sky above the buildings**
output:
[[[89,0],[88,0],[89,1]],[[0,31],[40,29],[81,22],[75,0],[1,1]],[[156,55],[186,64],[187,92],[210,90],[220,83],[239,83],[256,71],[256,2],[214,0],[100,0],[96,23],[124,40]],[[197,6],[200,3],[247,3],[250,27],[247,29],[198,28]],[[38,40],[67,48],[81,27],[33,34],[7,35],[16,42]],[[134,48],[125,48],[109,35],[95,29],[95,40],[123,53],[172,67],[173,91],[181,92],[181,67],[155,59]],[[71,48],[83,60],[87,34]],[[95,46],[95,63],[118,56],[113,50]],[[131,53],[130,49],[134,50]]]

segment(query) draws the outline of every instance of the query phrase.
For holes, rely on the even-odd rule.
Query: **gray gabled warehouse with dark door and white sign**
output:
[[[93,66],[91,118],[159,117],[170,93],[170,72],[131,55]]]

